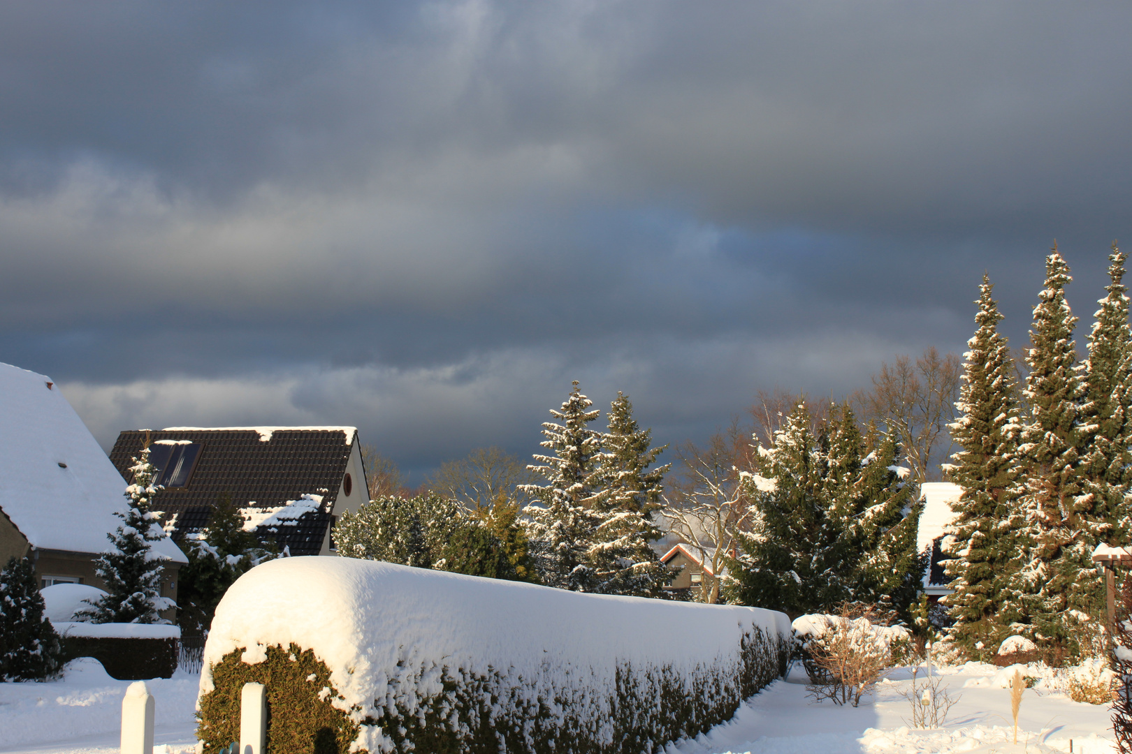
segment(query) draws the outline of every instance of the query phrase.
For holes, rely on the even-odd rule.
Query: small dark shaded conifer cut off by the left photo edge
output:
[[[62,662],[59,634],[43,617],[35,566],[27,557],[8,558],[0,571],[0,682],[46,681]]]

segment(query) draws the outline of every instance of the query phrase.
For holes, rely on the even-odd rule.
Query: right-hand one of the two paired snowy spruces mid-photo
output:
[[[609,408],[609,431],[602,436],[599,477],[604,487],[598,512],[603,520],[594,532],[591,563],[603,595],[663,597],[672,574],[649,545],[661,532],[652,521],[660,508],[664,474],[671,463],[649,470],[663,448],[650,448],[651,430],[633,418],[633,404],[623,393]]]

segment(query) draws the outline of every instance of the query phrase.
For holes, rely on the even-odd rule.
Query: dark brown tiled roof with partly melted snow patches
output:
[[[110,460],[130,482],[130,466],[142,452],[144,431],[127,431],[118,435]],[[208,525],[212,506],[230,494],[239,508],[277,508],[302,495],[320,495],[323,505],[305,513],[289,526],[273,527],[268,534],[278,547],[286,546],[292,555],[317,555],[333,517],[331,511],[338,494],[342,476],[350,460],[355,436],[342,430],[274,428],[269,440],[248,430],[161,430],[149,433],[157,440],[188,440],[201,444],[188,486],[162,489],[156,497],[157,510],[169,521],[174,514],[175,535],[199,531]]]

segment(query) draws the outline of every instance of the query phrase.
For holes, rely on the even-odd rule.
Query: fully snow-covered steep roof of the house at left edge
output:
[[[126,484],[49,376],[0,364],[0,509],[32,546],[101,553]],[[171,539],[156,555],[188,560]]]

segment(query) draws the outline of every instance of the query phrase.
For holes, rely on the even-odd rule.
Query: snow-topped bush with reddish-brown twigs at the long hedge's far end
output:
[[[894,650],[901,655],[911,651],[907,629],[874,625],[866,617],[803,615],[792,627],[801,640],[811,694],[834,704],[857,707],[893,664]]]

